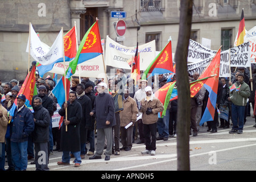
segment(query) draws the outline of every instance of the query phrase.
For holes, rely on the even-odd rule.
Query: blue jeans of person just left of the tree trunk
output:
[[[158,118],[157,126],[160,137],[169,137],[169,118],[170,110],[166,110],[166,115],[163,118]]]

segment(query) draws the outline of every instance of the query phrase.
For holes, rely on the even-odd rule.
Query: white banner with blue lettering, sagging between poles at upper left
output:
[[[30,42],[29,42],[30,40]],[[51,48],[47,48],[45,44],[43,44],[32,24],[30,26],[30,39],[28,38],[27,49],[28,52],[30,46],[30,55],[38,61],[38,63],[42,65],[49,65],[58,61],[63,61],[63,35],[62,32],[59,32],[59,35],[55,39],[55,42],[52,44]]]

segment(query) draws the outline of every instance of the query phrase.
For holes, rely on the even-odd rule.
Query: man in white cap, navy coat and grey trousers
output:
[[[94,102],[94,109],[90,112],[90,115],[93,115],[94,113],[96,114],[97,147],[96,154],[89,159],[101,159],[106,137],[107,148],[105,152],[105,160],[110,160],[113,144],[112,126],[116,124],[114,100],[108,93],[108,85],[104,82],[98,84],[98,93],[99,94]]]

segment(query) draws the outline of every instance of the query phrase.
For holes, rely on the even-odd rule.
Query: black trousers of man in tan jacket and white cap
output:
[[[156,150],[156,122],[150,125],[143,124],[146,150]]]

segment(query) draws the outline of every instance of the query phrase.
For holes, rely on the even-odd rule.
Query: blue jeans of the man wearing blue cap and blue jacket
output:
[[[16,171],[27,169],[27,141],[11,142],[11,155]]]

